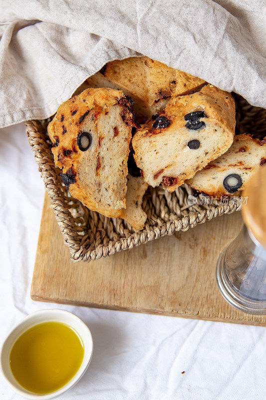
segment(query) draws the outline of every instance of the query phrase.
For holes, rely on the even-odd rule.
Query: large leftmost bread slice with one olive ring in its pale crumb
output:
[[[126,207],[131,107],[122,91],[88,88],[61,104],[48,126],[54,161],[71,195],[110,217]]]

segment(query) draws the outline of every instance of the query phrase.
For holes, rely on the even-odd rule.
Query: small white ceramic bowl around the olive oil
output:
[[[61,387],[56,391],[53,391],[52,393],[35,394],[20,386],[20,384],[13,377],[13,374],[9,366],[9,354],[14,342],[23,332],[25,332],[31,326],[34,326],[42,322],[63,322],[71,326],[73,329],[75,329],[75,331],[79,334],[83,342],[84,358],[77,373],[63,387]],[[73,387],[79,381],[79,379],[85,373],[86,369],[90,364],[92,351],[93,351],[93,341],[90,330],[78,316],[62,309],[44,309],[29,314],[20,322],[18,322],[16,326],[10,331],[0,349],[1,372],[4,378],[6,379],[7,383],[9,383],[9,385],[13,388],[13,390],[19,393],[20,395],[35,400],[36,399],[48,400],[50,398],[55,398],[60,394],[64,393],[66,390]]]

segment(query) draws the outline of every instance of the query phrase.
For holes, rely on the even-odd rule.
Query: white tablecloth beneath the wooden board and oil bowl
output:
[[[94,339],[86,374],[60,399],[266,398],[264,327],[31,300],[43,195],[23,125],[0,129],[0,340],[24,315],[50,307],[80,316]],[[0,398],[21,398],[2,376]]]

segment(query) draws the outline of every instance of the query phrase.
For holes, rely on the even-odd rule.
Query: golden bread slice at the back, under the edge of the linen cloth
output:
[[[206,82],[143,56],[108,62],[100,72],[88,78],[87,83],[91,87],[123,90],[134,100],[138,119],[145,122],[165,107],[172,96],[192,93]]]

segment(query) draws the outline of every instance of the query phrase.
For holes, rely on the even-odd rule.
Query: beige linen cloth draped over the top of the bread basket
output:
[[[264,0],[2,0],[0,127],[46,118],[107,61],[147,55],[266,108]]]

